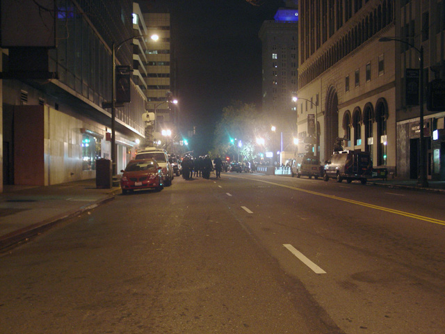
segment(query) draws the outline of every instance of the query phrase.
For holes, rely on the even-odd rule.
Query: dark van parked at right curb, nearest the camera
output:
[[[373,164],[369,152],[344,150],[334,152],[332,157],[325,162],[323,180],[327,181],[332,177],[337,182],[346,179],[348,183],[359,180],[362,184],[366,184],[366,181],[372,177],[372,173]]]

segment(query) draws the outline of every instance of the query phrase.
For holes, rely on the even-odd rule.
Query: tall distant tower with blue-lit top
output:
[[[273,152],[293,152],[296,113],[291,96],[298,88],[298,1],[286,1],[259,31],[262,45],[262,109],[275,127]],[[275,150],[276,149],[276,150]]]

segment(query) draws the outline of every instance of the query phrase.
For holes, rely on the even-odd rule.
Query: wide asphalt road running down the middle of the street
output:
[[[0,257],[0,333],[444,333],[444,196],[175,177]]]

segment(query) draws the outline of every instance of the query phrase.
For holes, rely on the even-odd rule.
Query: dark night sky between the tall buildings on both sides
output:
[[[245,0],[146,2],[154,13],[168,6],[181,120],[188,127],[197,126],[209,141],[218,116],[232,100],[261,108],[258,33],[261,24],[284,7],[280,0],[262,2],[261,6]]]

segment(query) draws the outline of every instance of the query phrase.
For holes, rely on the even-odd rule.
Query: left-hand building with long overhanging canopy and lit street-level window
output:
[[[39,23],[38,3],[25,4],[30,15],[24,19],[19,13],[17,22]],[[46,73],[26,68],[26,52],[35,49],[5,45],[3,33],[14,28],[2,26],[2,184],[94,178],[96,160],[111,159],[113,47],[115,63],[131,67],[131,44],[138,43],[132,36],[139,34],[132,22],[133,2],[57,0],[54,8],[45,12],[54,21],[54,46],[40,49]],[[133,76],[125,82],[131,102],[115,110],[116,170],[131,159],[136,139],[144,138],[147,99]]]

